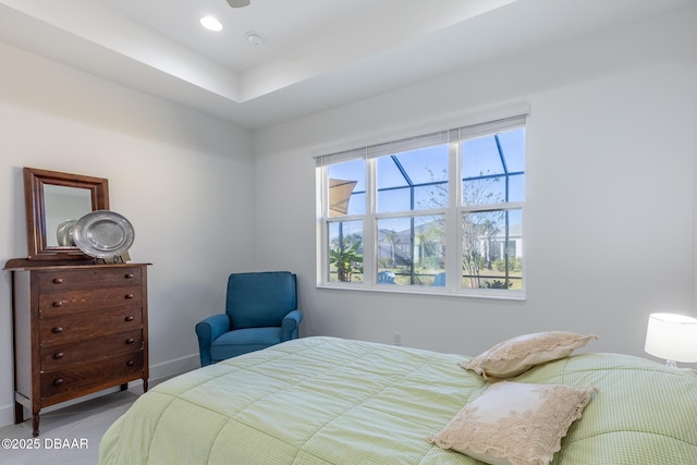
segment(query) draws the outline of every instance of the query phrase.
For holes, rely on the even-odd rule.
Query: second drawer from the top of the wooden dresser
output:
[[[107,287],[61,291],[39,295],[39,314],[68,315],[95,308],[143,305],[143,287]]]

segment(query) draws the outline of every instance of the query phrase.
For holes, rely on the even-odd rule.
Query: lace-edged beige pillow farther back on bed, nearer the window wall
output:
[[[503,341],[475,358],[463,362],[461,367],[481,375],[485,379],[509,378],[547,362],[571,355],[597,335],[584,335],[567,331],[548,331],[523,334]]]

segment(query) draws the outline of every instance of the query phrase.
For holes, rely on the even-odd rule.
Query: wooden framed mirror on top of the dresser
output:
[[[65,225],[109,209],[109,181],[24,168],[24,200],[29,260],[84,259],[87,256],[66,238]]]

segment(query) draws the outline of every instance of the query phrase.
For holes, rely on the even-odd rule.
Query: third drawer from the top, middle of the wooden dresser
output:
[[[142,307],[108,308],[39,318],[41,346],[78,342],[143,328]]]

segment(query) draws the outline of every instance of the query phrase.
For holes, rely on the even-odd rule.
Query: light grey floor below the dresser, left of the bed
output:
[[[1,427],[0,465],[97,465],[105,431],[142,392],[134,387],[41,414],[38,449],[5,449],[7,442],[19,446],[34,439],[30,419]],[[12,444],[12,440],[17,441]],[[63,446],[66,443],[70,448]]]

